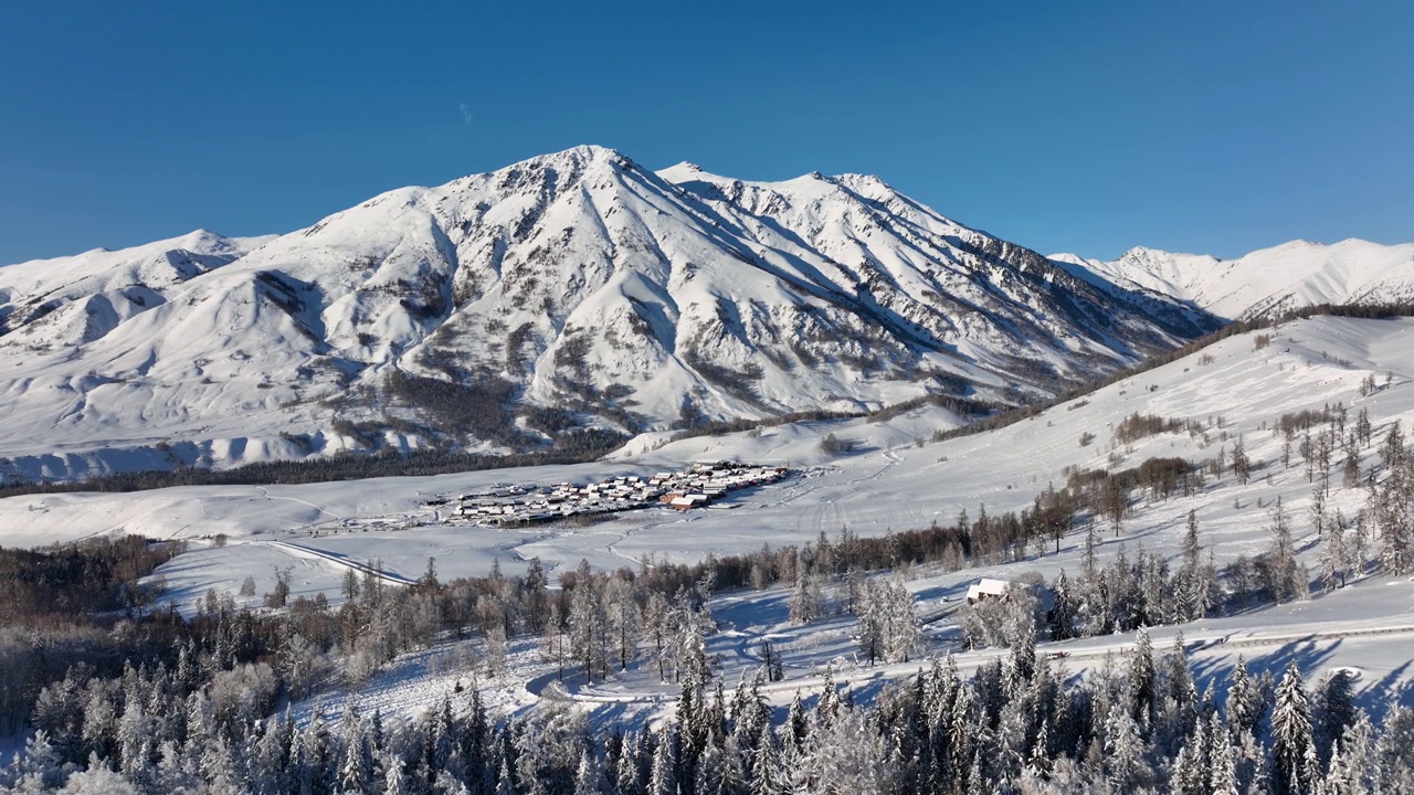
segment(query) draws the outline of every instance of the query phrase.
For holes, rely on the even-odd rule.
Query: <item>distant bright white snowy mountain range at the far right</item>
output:
[[[1096,284],[1176,298],[1226,320],[1312,304],[1414,298],[1414,243],[1292,240],[1229,260],[1145,248],[1130,249],[1113,262],[1076,255],[1051,259]]]

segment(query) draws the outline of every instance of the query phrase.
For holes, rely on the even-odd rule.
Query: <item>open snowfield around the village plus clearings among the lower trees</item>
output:
[[[1141,502],[1116,533],[1102,533],[1100,557],[1121,547],[1143,547],[1174,557],[1184,522],[1196,512],[1202,543],[1219,566],[1239,555],[1253,556],[1267,543],[1270,506],[1280,497],[1291,519],[1301,559],[1315,571],[1321,542],[1311,526],[1312,485],[1292,457],[1282,465],[1282,441],[1273,431],[1278,416],[1342,403],[1353,417],[1367,410],[1373,437],[1394,422],[1414,423],[1414,320],[1314,317],[1278,328],[1240,334],[1191,356],[1123,379],[1097,392],[1058,405],[1008,427],[932,441],[935,430],[953,427],[940,409],[919,409],[884,422],[820,422],[768,427],[759,433],[687,439],[653,444],[592,464],[440,475],[383,478],[317,485],[249,488],[171,488],[134,495],[31,495],[0,501],[0,543],[34,546],[95,533],[137,532],[182,538],[189,552],[164,566],[165,598],[184,611],[208,588],[235,593],[249,574],[257,593],[274,573],[291,571],[293,594],[324,593],[338,601],[349,564],[378,560],[390,577],[416,579],[436,557],[438,576],[485,574],[499,560],[508,571],[523,560],[542,559],[554,571],[581,559],[602,570],[638,567],[642,560],[697,562],[707,555],[744,553],[766,543],[803,545],[822,532],[834,536],[847,526],[860,536],[950,523],[966,509],[971,516],[1028,506],[1048,484],[1063,485],[1063,471],[1135,467],[1151,457],[1203,461],[1230,451],[1240,437],[1253,461],[1253,477],[1240,485],[1232,472],[1209,478],[1193,497]],[[1373,378],[1376,385],[1369,392]],[[1193,420],[1202,431],[1161,433],[1121,444],[1114,427],[1133,413]],[[848,454],[827,454],[820,440],[834,433],[855,444]],[[1082,434],[1093,434],[1082,444]],[[1365,451],[1362,471],[1377,458],[1377,444]],[[779,484],[734,492],[730,509],[687,513],[649,509],[622,513],[584,526],[544,525],[492,529],[444,523],[438,495],[475,491],[492,484],[598,480],[619,474],[652,474],[697,460],[735,458],[789,465],[799,472]],[[1332,478],[1329,508],[1355,515],[1367,498],[1363,487],[1343,488]],[[445,511],[445,506],[441,506]],[[215,536],[223,533],[223,545]],[[928,656],[959,652],[959,666],[973,668],[1003,652],[962,652],[953,611],[967,584],[978,577],[1014,579],[1039,571],[1048,579],[1080,567],[1083,532],[1062,540],[1060,553],[1032,555],[1022,563],[978,566],[947,573],[921,567],[909,574],[916,611],[925,618]],[[294,545],[294,546],[290,546]],[[854,620],[833,618],[809,625],[786,622],[786,591],[731,591],[717,596],[711,610],[720,631],[708,639],[728,687],[742,672],[759,666],[759,644],[771,639],[782,652],[786,680],[772,683],[781,706],[797,689],[819,689],[831,668],[861,697],[891,678],[916,672],[926,659],[864,666],[853,642]],[[259,598],[259,597],[256,597]],[[1335,668],[1356,675],[1369,706],[1381,699],[1410,699],[1414,658],[1414,581],[1369,576],[1349,587],[1247,614],[1203,620],[1152,631],[1162,651],[1182,629],[1200,682],[1229,671],[1237,655],[1256,669],[1280,673],[1295,661],[1308,676]],[[1063,651],[1070,671],[1103,665],[1106,656],[1133,644],[1133,635],[1111,635],[1046,644]],[[349,695],[361,703],[416,712],[471,686],[465,666],[423,676],[427,659],[467,659],[454,646],[402,659],[389,672]],[[533,642],[516,641],[499,678],[482,676],[486,697],[509,710],[542,700],[571,700],[604,720],[628,714],[650,720],[672,709],[676,689],[659,685],[639,668],[592,686],[568,676],[559,682]]]

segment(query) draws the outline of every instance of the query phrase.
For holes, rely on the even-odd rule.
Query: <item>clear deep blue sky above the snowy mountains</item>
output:
[[[578,143],[1051,253],[1414,240],[1414,3],[0,4],[0,263]],[[1075,6],[1075,7],[1070,7]]]

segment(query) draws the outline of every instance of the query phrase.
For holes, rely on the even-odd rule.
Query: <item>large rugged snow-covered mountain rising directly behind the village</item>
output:
[[[1217,325],[1072,270],[875,177],[747,182],[577,147],[277,238],[0,269],[0,455],[75,477],[1014,403]]]

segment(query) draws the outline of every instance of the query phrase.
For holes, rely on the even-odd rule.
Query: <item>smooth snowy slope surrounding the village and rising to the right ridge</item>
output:
[[[1254,340],[1271,334],[1258,348]],[[1292,513],[1304,513],[1311,485],[1299,464],[1282,467],[1282,441],[1271,430],[1280,414],[1343,403],[1353,414],[1366,409],[1379,437],[1394,420],[1414,423],[1414,320],[1352,320],[1315,317],[1277,331],[1250,332],[1223,340],[1199,354],[1140,376],[1113,383],[1082,399],[1042,412],[1008,427],[946,441],[929,441],[933,431],[954,424],[942,409],[919,409],[885,422],[847,420],[793,423],[740,433],[699,437],[611,460],[522,470],[492,470],[426,478],[269,487],[184,487],[126,494],[28,495],[0,501],[0,543],[40,545],[95,533],[144,532],[161,538],[197,538],[228,533],[232,539],[304,538],[311,529],[354,526],[358,532],[324,535],[317,546],[355,559],[380,557],[392,571],[416,576],[428,555],[436,555],[447,576],[484,573],[501,556],[540,556],[551,566],[573,566],[587,557],[611,569],[643,553],[669,555],[693,562],[707,553],[727,555],[759,547],[762,542],[803,543],[822,530],[848,526],[860,535],[949,522],[959,511],[1015,511],[1031,505],[1048,482],[1063,485],[1068,468],[1100,470],[1138,465],[1148,457],[1185,457],[1203,461],[1230,451],[1240,436],[1247,454],[1261,461],[1260,477],[1246,485],[1232,478],[1215,481],[1202,495],[1175,498],[1152,513],[1135,518],[1134,533],[1145,545],[1171,549],[1179,519],[1189,508],[1215,535],[1240,542],[1244,533],[1260,538],[1260,525],[1249,513],[1233,511],[1234,498],[1254,504],[1285,495]],[[1393,373],[1390,385],[1384,382]],[[1374,376],[1380,389],[1362,395],[1362,382]],[[1206,433],[1162,433],[1133,443],[1114,439],[1114,429],[1133,413],[1193,420]],[[1222,417],[1222,429],[1217,419]],[[1263,426],[1267,426],[1266,429]],[[848,454],[822,450],[826,433],[855,443]],[[1090,444],[1080,444],[1086,433]],[[1225,440],[1223,436],[1227,439]],[[648,446],[653,447],[653,446]],[[1292,454],[1295,461],[1299,455]],[[529,528],[465,530],[423,528],[375,532],[366,522],[402,526],[431,521],[436,506],[426,502],[438,494],[462,494],[503,482],[553,484],[588,481],[611,474],[648,474],[697,460],[740,458],[822,467],[759,492],[732,511],[667,511],[625,513],[590,528]],[[1362,465],[1377,458],[1366,451]],[[1270,482],[1267,475],[1271,475]],[[1336,475],[1339,478],[1339,474]],[[1346,513],[1353,515],[1359,491]],[[1339,502],[1336,505],[1340,505]],[[262,543],[211,550],[239,556],[263,549]],[[1219,559],[1241,552],[1219,546]],[[202,555],[192,556],[195,563]],[[263,552],[273,559],[283,553]],[[222,560],[225,560],[222,557]],[[212,559],[215,563],[215,559]],[[223,562],[208,570],[232,571]],[[205,564],[204,564],[205,566]],[[308,583],[312,590],[335,591],[341,571]],[[195,593],[201,593],[199,590]],[[312,591],[311,591],[312,593]]]

